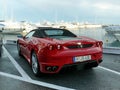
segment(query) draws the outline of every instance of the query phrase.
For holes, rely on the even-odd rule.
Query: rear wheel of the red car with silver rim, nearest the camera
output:
[[[32,56],[31,56],[31,65],[32,65],[32,71],[33,71],[34,75],[40,76],[40,74],[41,74],[40,67],[39,67],[37,55],[35,54],[35,52],[33,52]]]

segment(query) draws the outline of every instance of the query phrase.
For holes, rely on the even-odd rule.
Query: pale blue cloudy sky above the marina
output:
[[[120,24],[120,0],[0,0],[0,20]]]

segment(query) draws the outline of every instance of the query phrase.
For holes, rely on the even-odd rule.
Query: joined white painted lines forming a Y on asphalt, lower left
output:
[[[12,74],[8,74],[8,73],[3,73],[3,72],[0,72],[0,75],[10,77],[10,78],[13,78],[13,79],[17,79],[17,80],[21,80],[21,81],[25,81],[25,82],[28,82],[28,83],[40,85],[40,86],[43,86],[43,87],[57,89],[57,90],[75,90],[75,89],[72,89],[72,88],[67,88],[67,87],[63,87],[63,86],[59,86],[59,85],[54,85],[54,84],[50,84],[50,83],[46,83],[46,82],[42,82],[42,81],[32,80],[28,76],[28,74],[20,67],[20,65],[15,61],[15,59],[9,54],[9,52],[7,51],[7,49],[4,46],[3,46],[3,49],[5,51],[5,54],[11,60],[11,62],[15,65],[15,67],[17,68],[19,73],[22,75],[22,77],[12,75]]]

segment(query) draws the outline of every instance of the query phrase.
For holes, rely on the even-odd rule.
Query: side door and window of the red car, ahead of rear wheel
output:
[[[31,38],[33,37],[34,33],[35,31],[31,31],[23,38],[22,52],[24,53],[26,58],[28,58],[28,55],[30,53],[29,47],[30,47]]]

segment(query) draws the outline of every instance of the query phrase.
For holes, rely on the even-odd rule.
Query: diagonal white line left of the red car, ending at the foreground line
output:
[[[3,46],[3,50],[5,51],[5,54],[8,56],[10,61],[14,64],[16,69],[19,71],[19,73],[24,77],[25,79],[31,79],[28,74],[21,68],[21,66],[15,61],[15,59],[10,55],[10,53],[7,51],[7,49]]]

